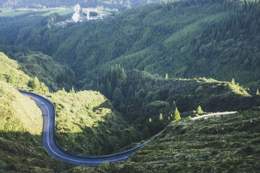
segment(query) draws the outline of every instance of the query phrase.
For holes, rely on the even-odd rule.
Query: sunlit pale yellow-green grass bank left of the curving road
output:
[[[33,100],[0,81],[0,130],[41,135],[43,117]]]

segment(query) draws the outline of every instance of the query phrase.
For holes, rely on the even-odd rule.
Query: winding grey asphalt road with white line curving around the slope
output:
[[[54,105],[43,96],[39,96],[36,93],[30,93],[27,91],[20,91],[24,96],[28,96],[31,100],[34,100],[36,105],[40,107],[43,113],[43,147],[47,149],[50,155],[64,163],[70,163],[74,165],[87,165],[87,166],[99,166],[101,163],[113,163],[118,161],[125,161],[127,158],[147,142],[140,144],[139,146],[123,151],[121,153],[115,153],[106,156],[75,156],[62,150],[55,140],[55,107]]]

